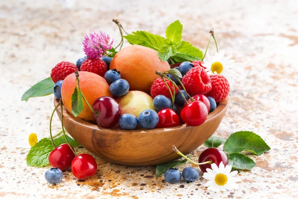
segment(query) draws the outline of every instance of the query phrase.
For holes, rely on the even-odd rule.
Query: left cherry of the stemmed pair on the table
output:
[[[75,158],[74,152],[68,144],[61,144],[49,155],[49,162],[52,167],[57,167],[61,171],[67,170]]]

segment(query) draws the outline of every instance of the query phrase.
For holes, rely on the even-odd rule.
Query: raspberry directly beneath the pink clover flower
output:
[[[107,72],[107,64],[101,59],[86,59],[82,62],[80,71],[95,73],[101,77]]]

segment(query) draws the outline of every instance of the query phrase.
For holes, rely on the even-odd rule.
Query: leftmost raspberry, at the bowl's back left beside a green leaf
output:
[[[68,75],[77,71],[76,66],[70,62],[60,62],[53,69],[51,73],[51,78],[53,82],[58,82],[64,80]]]

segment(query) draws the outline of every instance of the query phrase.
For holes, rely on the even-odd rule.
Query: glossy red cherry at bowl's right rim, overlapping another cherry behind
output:
[[[189,126],[199,126],[206,120],[208,109],[202,101],[192,101],[180,113],[182,121]]]

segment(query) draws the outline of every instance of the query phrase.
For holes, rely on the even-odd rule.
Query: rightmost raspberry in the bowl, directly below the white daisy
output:
[[[229,93],[229,83],[222,75],[213,75],[210,77],[212,89],[206,96],[214,98],[216,102],[224,100]]]

